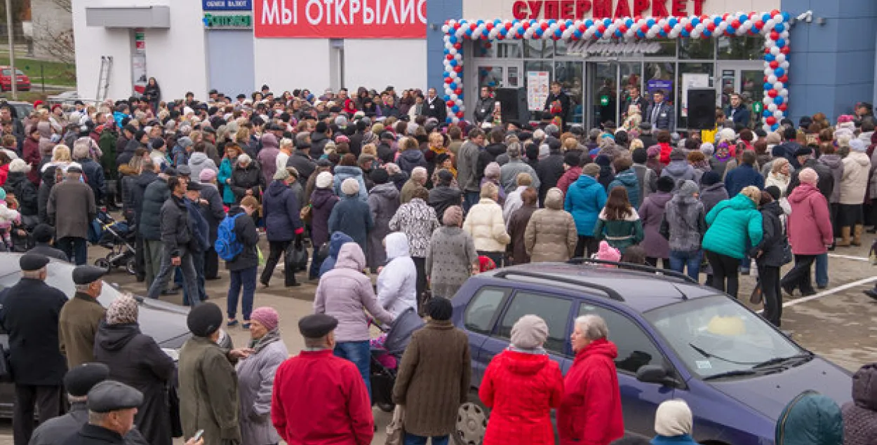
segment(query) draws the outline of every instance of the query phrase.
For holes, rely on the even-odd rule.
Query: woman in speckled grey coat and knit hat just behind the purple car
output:
[[[432,298],[453,298],[460,286],[478,271],[478,252],[472,237],[462,229],[463,209],[451,206],[445,210],[442,227],[432,232],[426,250],[426,276],[432,287]]]

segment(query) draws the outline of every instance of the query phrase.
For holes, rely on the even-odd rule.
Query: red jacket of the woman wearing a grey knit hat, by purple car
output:
[[[483,445],[553,445],[551,409],[563,375],[544,354],[504,350],[488,364],[478,397],[491,410]]]

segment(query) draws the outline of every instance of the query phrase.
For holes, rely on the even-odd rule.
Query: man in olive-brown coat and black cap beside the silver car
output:
[[[103,274],[107,271],[93,265],[80,265],[73,270],[76,293],[61,308],[58,337],[61,354],[67,356],[67,367],[95,361],[95,333],[106,309],[97,302],[103,290]]]

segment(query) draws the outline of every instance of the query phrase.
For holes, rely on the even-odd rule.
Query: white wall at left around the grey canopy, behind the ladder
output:
[[[197,99],[207,97],[203,13],[201,2],[195,0],[73,0],[79,95],[96,97],[102,55],[114,58],[108,97],[121,99],[132,94],[132,30],[86,26],[86,6],[152,5],[171,7],[170,28],[146,29],[146,74],[159,81],[163,99],[182,98],[187,91],[194,92]]]

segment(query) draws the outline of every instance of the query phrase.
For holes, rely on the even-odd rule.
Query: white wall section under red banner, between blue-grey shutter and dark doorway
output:
[[[254,39],[254,42],[253,91],[265,83],[275,95],[296,88],[308,88],[315,93],[329,88],[329,39]]]

